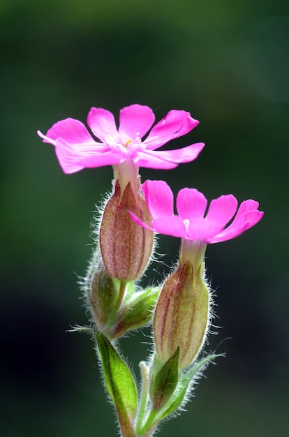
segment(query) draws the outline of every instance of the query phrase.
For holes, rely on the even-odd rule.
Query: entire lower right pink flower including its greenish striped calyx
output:
[[[258,223],[263,213],[255,200],[245,200],[237,210],[232,194],[212,200],[207,209],[200,191],[183,188],[177,195],[175,215],[168,184],[146,181],[142,191],[152,220],[147,225],[130,213],[133,220],[144,228],[181,238],[179,265],[163,283],[154,311],[154,340],[162,362],[179,348],[179,367],[186,367],[202,350],[211,318],[204,269],[207,244],[237,237]]]

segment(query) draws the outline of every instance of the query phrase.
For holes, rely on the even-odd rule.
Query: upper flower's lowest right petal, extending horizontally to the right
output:
[[[179,163],[188,163],[197,158],[205,146],[203,142],[197,142],[191,146],[175,150],[140,150],[133,151],[133,162],[140,167],[147,168],[175,168]]]

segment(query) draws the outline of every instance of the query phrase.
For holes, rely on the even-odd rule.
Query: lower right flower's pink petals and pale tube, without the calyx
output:
[[[225,242],[241,235],[258,223],[264,214],[258,210],[259,204],[255,200],[245,200],[237,210],[237,199],[228,194],[212,200],[205,215],[205,196],[195,188],[183,188],[177,194],[178,215],[175,215],[174,196],[166,182],[148,180],[142,184],[142,191],[152,221],[149,226],[133,214],[132,218],[144,228],[180,237],[181,264],[190,259],[193,265],[199,265],[207,244]],[[234,216],[232,223],[226,228]]]

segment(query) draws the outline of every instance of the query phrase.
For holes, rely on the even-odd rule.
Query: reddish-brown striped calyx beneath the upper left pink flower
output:
[[[131,182],[128,182],[121,194],[119,182],[116,181],[114,194],[103,212],[100,245],[108,274],[124,282],[142,276],[154,246],[154,233],[135,223],[129,211],[145,223],[151,220],[140,190],[136,199]]]

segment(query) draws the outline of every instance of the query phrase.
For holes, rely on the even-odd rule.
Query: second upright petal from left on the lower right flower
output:
[[[177,194],[177,212],[181,218],[203,218],[207,208],[205,195],[195,188],[183,188]]]

